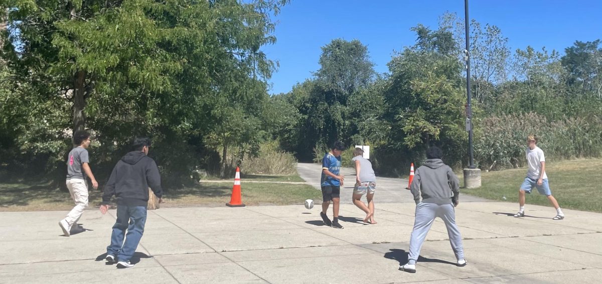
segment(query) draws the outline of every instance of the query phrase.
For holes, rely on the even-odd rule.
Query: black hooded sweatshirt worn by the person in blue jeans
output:
[[[157,164],[142,151],[129,152],[113,168],[102,194],[102,204],[109,204],[114,195],[118,205],[146,207],[149,187],[157,197],[163,196]]]

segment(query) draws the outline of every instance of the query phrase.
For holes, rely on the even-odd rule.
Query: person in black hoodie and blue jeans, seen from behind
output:
[[[150,187],[159,202],[163,202],[161,176],[157,164],[149,158],[149,138],[135,138],[134,151],[123,156],[113,168],[102,194],[102,214],[107,213],[111,197],[117,201],[117,221],[113,225],[107,261],[117,262],[117,268],[133,267],[130,262],[144,233]],[[127,229],[127,236],[126,236]],[[123,242],[123,238],[125,242]]]

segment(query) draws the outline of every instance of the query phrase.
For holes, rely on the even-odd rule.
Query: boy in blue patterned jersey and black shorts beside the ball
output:
[[[338,223],[338,209],[341,201],[341,187],[343,186],[344,177],[341,176],[341,153],[345,146],[341,141],[337,141],[332,145],[332,150],[324,155],[322,159],[322,177],[320,186],[322,188],[322,212],[320,216],[326,226],[331,226],[337,229],[343,229],[343,226]],[[332,201],[332,221],[326,215],[326,211]]]

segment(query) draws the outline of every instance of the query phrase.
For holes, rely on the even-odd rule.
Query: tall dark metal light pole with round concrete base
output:
[[[470,102],[470,40],[468,32],[470,23],[468,21],[468,0],[464,0],[464,27],[466,29],[466,49],[464,50],[464,59],[466,61],[466,131],[468,131],[468,155],[470,156],[468,168],[464,169],[464,187],[477,188],[481,186],[481,170],[474,165],[473,157],[473,110]]]

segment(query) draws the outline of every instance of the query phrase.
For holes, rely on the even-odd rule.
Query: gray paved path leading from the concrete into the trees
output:
[[[297,172],[309,185],[320,189],[321,164],[298,163]],[[346,183],[341,188],[341,203],[352,204],[353,184],[355,184],[355,169],[341,168]],[[409,190],[408,179],[394,177],[376,177],[376,193],[374,203],[414,203],[414,197]],[[462,190],[460,190],[462,193]],[[364,199],[365,201],[365,199]],[[460,194],[460,202],[486,202],[488,200],[479,197]]]

